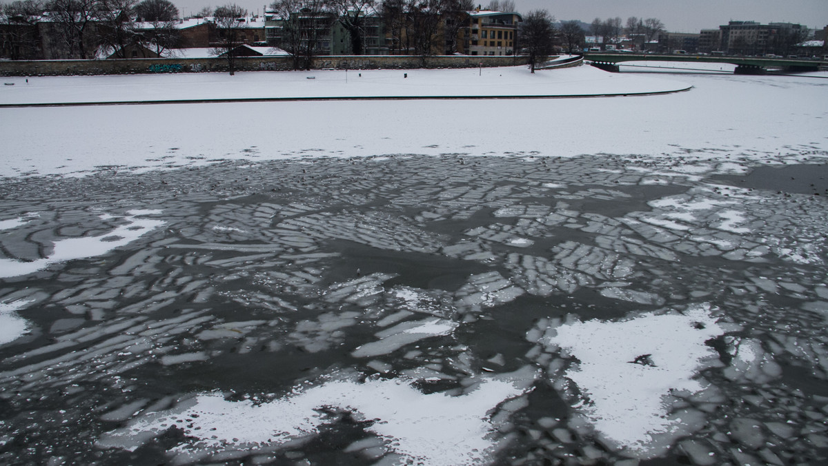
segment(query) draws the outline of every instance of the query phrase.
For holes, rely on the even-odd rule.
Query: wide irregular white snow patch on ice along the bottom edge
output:
[[[169,411],[150,413],[128,427],[103,435],[99,446],[134,451],[176,425],[192,444],[171,450],[175,463],[190,463],[206,455],[233,449],[286,444],[319,432],[330,423],[319,408],[349,411],[358,420],[374,420],[365,429],[388,442],[402,458],[399,463],[461,465],[488,463],[497,446],[498,427],[489,411],[529,390],[535,372],[482,377],[461,396],[424,394],[413,380],[371,380],[364,383],[332,380],[315,387],[296,388],[274,401],[226,401],[220,393],[203,393]],[[178,422],[183,420],[183,422]]]

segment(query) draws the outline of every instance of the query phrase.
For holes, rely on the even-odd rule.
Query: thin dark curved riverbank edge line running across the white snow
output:
[[[606,98],[606,97],[642,97],[647,95],[675,94],[693,89],[687,86],[681,89],[652,92],[625,92],[611,94],[549,94],[549,95],[436,95],[436,96],[343,96],[343,97],[253,97],[253,98],[195,98],[166,100],[122,100],[109,102],[63,102],[63,103],[0,103],[0,108],[27,107],[86,107],[92,105],[161,105],[181,103],[245,103],[245,102],[326,102],[347,100],[499,100],[525,98]]]

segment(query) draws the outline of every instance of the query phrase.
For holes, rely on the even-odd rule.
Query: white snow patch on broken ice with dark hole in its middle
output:
[[[662,398],[674,390],[704,390],[696,376],[709,366],[706,360],[718,357],[705,341],[725,331],[709,305],[696,305],[683,315],[563,324],[546,343],[580,360],[565,374],[583,394],[577,411],[609,443],[647,458],[654,435],[686,434]],[[646,354],[654,366],[633,363]]]

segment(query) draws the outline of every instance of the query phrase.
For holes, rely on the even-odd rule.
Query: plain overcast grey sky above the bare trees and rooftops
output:
[[[484,6],[489,0],[477,0]],[[262,12],[264,0],[172,0],[181,14],[189,15],[202,7],[236,2],[250,12]],[[797,22],[805,26],[828,25],[828,0],[515,0],[517,11],[526,13],[546,8],[559,20],[596,17],[657,17],[668,31],[698,32],[716,28],[730,20],[758,22]]]

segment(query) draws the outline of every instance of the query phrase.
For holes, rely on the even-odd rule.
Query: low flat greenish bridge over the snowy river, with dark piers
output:
[[[591,52],[584,54],[584,60],[601,70],[619,71],[618,64],[623,61],[681,61],[700,63],[729,63],[736,65],[734,74],[765,74],[768,68],[792,72],[817,71],[820,66],[828,66],[826,60],[804,60],[792,58],[770,58],[753,56],[712,56],[712,55],[657,55],[626,52]]]

